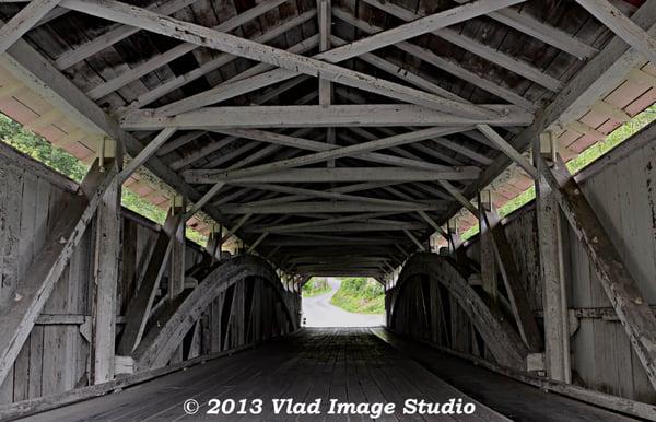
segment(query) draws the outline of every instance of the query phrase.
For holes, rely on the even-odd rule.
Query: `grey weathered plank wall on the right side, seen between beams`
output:
[[[644,297],[656,305],[656,144],[651,141],[634,148],[629,140],[619,149],[600,160],[605,165],[588,167],[577,180],[605,227],[617,239],[616,247]],[[531,307],[541,310],[534,204],[507,220],[504,227],[515,246],[515,259]],[[609,307],[610,302],[596,280],[587,255],[566,223],[563,232],[569,307]],[[467,255],[478,261],[478,241],[467,248]],[[656,403],[656,391],[620,321],[586,317],[581,318],[579,324],[571,339],[573,379],[599,391]]]

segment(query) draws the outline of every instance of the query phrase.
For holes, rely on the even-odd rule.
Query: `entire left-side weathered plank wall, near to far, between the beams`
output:
[[[52,223],[65,214],[60,204],[72,194],[70,181],[33,162],[25,168],[0,154],[0,306],[15,298],[16,286],[35,251],[42,247]],[[38,171],[35,171],[37,168]],[[124,271],[118,285],[117,314],[124,315],[138,288],[157,226],[124,218]],[[93,276],[93,230],[87,230],[69,267],[58,281],[43,314],[87,316],[91,314],[90,283]],[[200,248],[187,247],[187,265],[200,257]],[[118,327],[120,328],[120,326]],[[61,392],[86,385],[89,343],[80,323],[37,324],[0,385],[0,403]]]

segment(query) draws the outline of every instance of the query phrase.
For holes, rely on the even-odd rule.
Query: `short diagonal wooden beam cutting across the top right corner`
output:
[[[607,0],[576,0],[576,2],[626,44],[642,52],[647,60],[656,63],[656,39],[633,23],[618,8]]]

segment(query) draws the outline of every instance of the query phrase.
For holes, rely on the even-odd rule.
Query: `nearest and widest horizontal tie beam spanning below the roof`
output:
[[[195,112],[161,117],[152,110],[131,113],[121,118],[127,130],[220,130],[226,128],[353,127],[353,126],[527,126],[532,115],[515,106],[481,106],[497,117],[469,118],[415,105],[351,104],[331,106],[249,106],[206,107]]]

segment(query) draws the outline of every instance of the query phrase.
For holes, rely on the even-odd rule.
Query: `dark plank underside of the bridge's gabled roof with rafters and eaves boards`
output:
[[[325,10],[312,0],[128,3],[311,57],[326,44],[364,39],[462,1],[333,0]],[[344,70],[337,83],[291,73],[258,85],[257,75],[272,67],[250,52],[231,56],[63,8],[25,39],[143,143],[176,128],[156,159],[201,195],[224,183],[209,202],[219,210],[213,216],[238,226],[238,237],[260,255],[296,273],[380,276],[454,216],[461,208],[454,194],[469,195],[506,160],[494,136],[512,141],[529,127],[612,37],[573,1],[516,3],[343,61],[338,54],[324,58]],[[628,15],[635,11],[624,1],[613,4]],[[22,7],[3,3],[0,17]],[[321,24],[330,9],[331,24]],[[248,13],[254,16],[239,19]],[[642,71],[656,74],[649,65]],[[358,85],[362,74],[391,84]],[[237,81],[247,89],[234,95]],[[562,128],[564,155],[621,125],[612,110],[633,116],[647,107],[654,91],[629,83],[606,98],[608,109]],[[394,94],[400,92],[415,104]],[[3,98],[0,109],[23,122],[35,119],[17,98]],[[44,120],[33,129],[79,157],[94,155],[74,127]],[[319,154],[330,150],[338,153]],[[531,184],[523,171],[504,180],[497,206]],[[126,186],[168,203],[139,175]],[[473,221],[466,216],[460,225]]]

